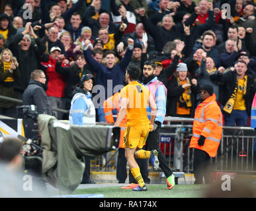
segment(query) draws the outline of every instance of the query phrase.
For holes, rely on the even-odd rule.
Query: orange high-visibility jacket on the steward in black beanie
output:
[[[222,127],[222,111],[213,94],[196,107],[189,147],[203,150],[210,157],[215,157],[222,139]],[[198,145],[200,135],[206,137],[203,146]]]

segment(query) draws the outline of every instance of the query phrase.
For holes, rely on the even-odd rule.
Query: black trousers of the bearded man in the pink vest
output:
[[[149,132],[147,141],[146,141],[146,149],[151,150],[157,150],[158,153],[158,160],[159,160],[159,167],[163,170],[165,173],[165,177],[169,177],[173,174],[171,169],[168,166],[167,160],[165,159],[165,156],[163,155],[163,152],[159,149],[159,140],[160,140],[160,129],[161,127],[157,127],[155,131]]]

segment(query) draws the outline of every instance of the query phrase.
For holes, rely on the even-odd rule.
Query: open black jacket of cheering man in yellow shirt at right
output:
[[[255,94],[255,82],[254,77],[251,74],[248,74],[247,79],[247,90],[246,94],[243,97],[245,99],[245,106],[248,116],[251,115],[251,104],[253,103],[253,97]],[[212,80],[218,80],[219,82],[224,82],[224,86],[222,90],[220,90],[220,102],[222,106],[225,106],[228,100],[230,99],[230,96],[234,92],[235,84],[237,80],[237,73],[236,71],[228,71],[223,74],[219,74],[218,71],[216,71],[215,75],[212,75],[210,77]],[[224,115],[228,115],[225,111],[223,111]]]

